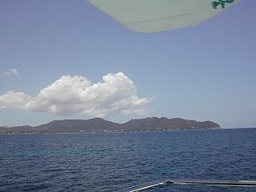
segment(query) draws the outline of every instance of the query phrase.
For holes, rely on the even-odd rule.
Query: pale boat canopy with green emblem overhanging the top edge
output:
[[[122,25],[139,32],[193,26],[239,0],[88,0]]]

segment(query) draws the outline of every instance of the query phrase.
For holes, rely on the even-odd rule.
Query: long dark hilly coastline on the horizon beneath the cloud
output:
[[[83,132],[119,132],[119,131],[164,131],[181,129],[220,129],[220,125],[211,121],[166,117],[130,119],[124,124],[113,123],[101,118],[53,120],[39,126],[0,127],[0,133],[83,133]]]

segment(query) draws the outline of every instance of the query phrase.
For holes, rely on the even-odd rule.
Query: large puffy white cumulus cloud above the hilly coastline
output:
[[[62,76],[35,96],[8,91],[0,96],[0,109],[50,112],[57,115],[145,115],[153,98],[140,98],[134,82],[124,73],[108,73],[92,84],[83,76]]]

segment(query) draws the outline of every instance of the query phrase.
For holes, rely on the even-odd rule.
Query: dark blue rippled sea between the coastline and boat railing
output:
[[[256,129],[0,135],[0,191],[116,191],[154,180],[256,180]],[[256,191],[160,185],[152,191]]]

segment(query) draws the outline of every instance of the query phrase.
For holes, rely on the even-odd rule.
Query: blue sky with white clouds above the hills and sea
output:
[[[156,116],[256,127],[255,7],[145,34],[84,0],[2,0],[0,126]]]

